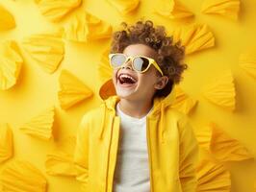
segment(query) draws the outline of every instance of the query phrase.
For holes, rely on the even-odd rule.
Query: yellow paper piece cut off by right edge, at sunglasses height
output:
[[[243,70],[256,80],[256,55],[241,54],[239,62]]]

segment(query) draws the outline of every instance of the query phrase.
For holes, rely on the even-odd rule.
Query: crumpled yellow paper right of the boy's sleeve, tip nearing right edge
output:
[[[253,158],[238,140],[231,138],[213,122],[203,132],[197,132],[196,138],[199,146],[209,150],[218,161],[241,161]]]

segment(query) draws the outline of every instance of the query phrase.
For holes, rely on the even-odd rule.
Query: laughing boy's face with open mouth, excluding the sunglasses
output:
[[[155,59],[157,53],[151,47],[144,44],[132,44],[127,46],[123,54],[127,56],[145,56]],[[129,80],[132,78],[132,80]],[[151,65],[144,73],[133,70],[131,60],[122,68],[114,69],[113,82],[116,94],[121,99],[133,101],[150,101],[153,99],[156,89],[159,88],[159,75],[157,69]]]

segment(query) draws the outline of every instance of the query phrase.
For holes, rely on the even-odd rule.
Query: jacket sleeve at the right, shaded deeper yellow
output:
[[[196,166],[198,164],[198,143],[186,115],[180,126],[180,168],[179,177],[183,192],[195,192],[197,186]]]

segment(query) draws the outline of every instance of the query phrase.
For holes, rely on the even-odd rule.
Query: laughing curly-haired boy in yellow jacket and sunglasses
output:
[[[101,89],[102,106],[84,115],[77,132],[83,191],[195,191],[197,142],[186,115],[171,108],[183,59],[184,47],[151,21],[115,32],[113,79]]]

